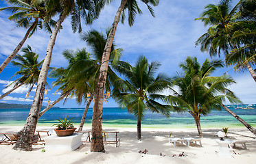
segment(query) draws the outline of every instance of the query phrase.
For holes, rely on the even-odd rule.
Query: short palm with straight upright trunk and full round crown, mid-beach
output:
[[[115,66],[126,79],[115,81],[113,98],[137,118],[137,139],[141,139],[141,121],[146,111],[162,113],[167,117],[170,115],[170,105],[157,102],[165,98],[159,93],[170,85],[170,79],[164,74],[154,77],[159,66],[156,61],[148,63],[148,59],[143,56],[139,57],[134,67],[124,62]]]

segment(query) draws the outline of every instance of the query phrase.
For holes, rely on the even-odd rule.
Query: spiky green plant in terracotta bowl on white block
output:
[[[68,118],[68,115],[67,117],[64,116],[64,120],[59,118],[58,122],[60,123],[56,123],[52,125],[52,126],[57,126],[57,128],[54,129],[54,131],[56,131],[56,134],[60,137],[73,135],[73,133],[75,132],[76,128],[73,126],[73,122],[71,122],[73,118],[71,118],[70,120],[67,120],[67,118]]]

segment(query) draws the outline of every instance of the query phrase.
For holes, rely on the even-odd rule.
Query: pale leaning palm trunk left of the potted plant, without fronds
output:
[[[54,31],[51,34],[51,38],[47,46],[45,60],[43,62],[43,66],[40,70],[40,74],[38,77],[34,101],[32,103],[32,107],[30,109],[30,113],[25,122],[24,128],[21,131],[19,131],[19,133],[17,133],[17,135],[19,136],[19,139],[14,146],[14,150],[25,150],[25,151],[32,150],[32,140],[34,137],[34,133],[36,131],[36,124],[38,122],[40,109],[42,107],[47,72],[49,70],[49,66],[51,63],[51,54],[52,54],[52,50],[54,49],[54,44],[55,44],[58,31],[60,30],[61,23],[63,22],[64,19],[65,19],[64,14],[61,14],[60,18],[58,19],[54,27]]]

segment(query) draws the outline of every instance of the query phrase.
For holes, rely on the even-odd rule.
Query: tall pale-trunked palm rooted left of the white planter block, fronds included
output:
[[[97,3],[96,0],[95,1],[93,0],[84,0],[84,1],[47,0],[46,1],[47,18],[49,19],[52,16],[55,16],[56,14],[60,14],[60,17],[58,18],[58,21],[54,27],[54,31],[51,34],[51,38],[47,46],[45,60],[43,62],[43,66],[38,77],[38,85],[36,87],[36,94],[34,96],[30,113],[27,117],[24,128],[21,129],[19,133],[17,133],[17,135],[19,136],[19,139],[16,142],[16,145],[14,146],[15,150],[27,150],[27,151],[32,150],[32,139],[34,136],[34,132],[36,130],[36,124],[38,122],[40,108],[42,107],[43,93],[45,92],[45,83],[46,83],[47,73],[51,63],[51,54],[54,49],[56,37],[57,37],[58,31],[60,30],[62,22],[70,14],[79,11],[78,16],[83,16],[84,21],[87,24],[92,23],[92,19],[97,18],[97,15],[95,14],[98,14],[94,10],[94,7],[95,7],[94,2]],[[73,19],[72,20],[73,25],[75,24],[75,22],[77,22],[76,20],[78,21],[80,20],[77,17],[73,17],[73,16],[71,18]]]

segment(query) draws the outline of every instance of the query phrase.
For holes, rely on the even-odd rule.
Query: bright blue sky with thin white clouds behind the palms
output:
[[[149,61],[160,61],[162,64],[159,72],[165,72],[166,74],[173,76],[177,71],[178,64],[185,61],[187,56],[196,56],[200,63],[209,58],[207,53],[200,52],[199,47],[195,47],[196,40],[202,36],[207,27],[204,27],[200,21],[195,21],[200,13],[204,10],[205,5],[209,3],[218,3],[219,1],[213,0],[183,0],[183,1],[163,1],[161,0],[159,5],[154,8],[156,17],[152,17],[148,12],[146,5],[139,3],[139,6],[143,12],[141,15],[137,15],[135,25],[128,26],[127,21],[124,25],[119,23],[115,36],[115,44],[118,48],[124,49],[123,57],[124,61],[128,61],[130,64],[135,64],[139,55],[145,55]],[[110,27],[113,23],[115,12],[119,6],[120,1],[116,0],[110,5],[106,6],[100,14],[100,18],[95,20],[91,26],[83,26],[83,31],[90,29],[105,31],[106,27]],[[233,5],[237,3],[233,1]],[[0,1],[0,7],[3,8],[7,4],[5,1]],[[25,35],[25,29],[16,28],[15,24],[8,20],[10,12],[0,12],[0,62],[10,55],[17,44],[21,41]],[[57,19],[56,19],[57,20]],[[62,57],[62,51],[65,49],[82,49],[86,48],[91,52],[89,46],[85,42],[80,40],[79,33],[72,33],[70,18],[67,18],[62,23],[63,29],[58,33],[54,51],[52,54],[52,67],[65,67],[67,61]],[[49,33],[43,30],[38,30],[31,38],[28,38],[24,46],[29,44],[32,49],[40,55],[40,60],[45,57],[45,51],[49,42]],[[22,53],[19,53],[22,54]],[[0,74],[0,94],[6,92],[4,89],[10,81],[15,80],[17,77],[12,75],[18,71],[19,68],[14,68],[12,64],[8,66]],[[231,68],[222,68],[218,70],[214,75],[220,76],[224,72],[229,70],[229,74],[237,81],[235,85],[230,87],[231,90],[244,102],[255,103],[256,89],[255,82],[251,78],[248,71],[234,72]],[[51,84],[54,79],[47,79],[47,83]],[[45,95],[43,105],[47,105],[47,100],[50,98],[54,101],[58,98],[59,92],[56,92],[57,88],[49,89],[47,95]],[[0,100],[0,102],[6,103],[21,103],[32,104],[34,98],[34,90],[30,94],[30,98],[25,100],[25,94],[27,87],[21,87],[9,96]],[[84,107],[78,105],[74,99],[69,99],[63,105],[59,102],[58,107]],[[93,107],[93,105],[91,105]],[[117,107],[114,100],[108,100],[104,107]]]

